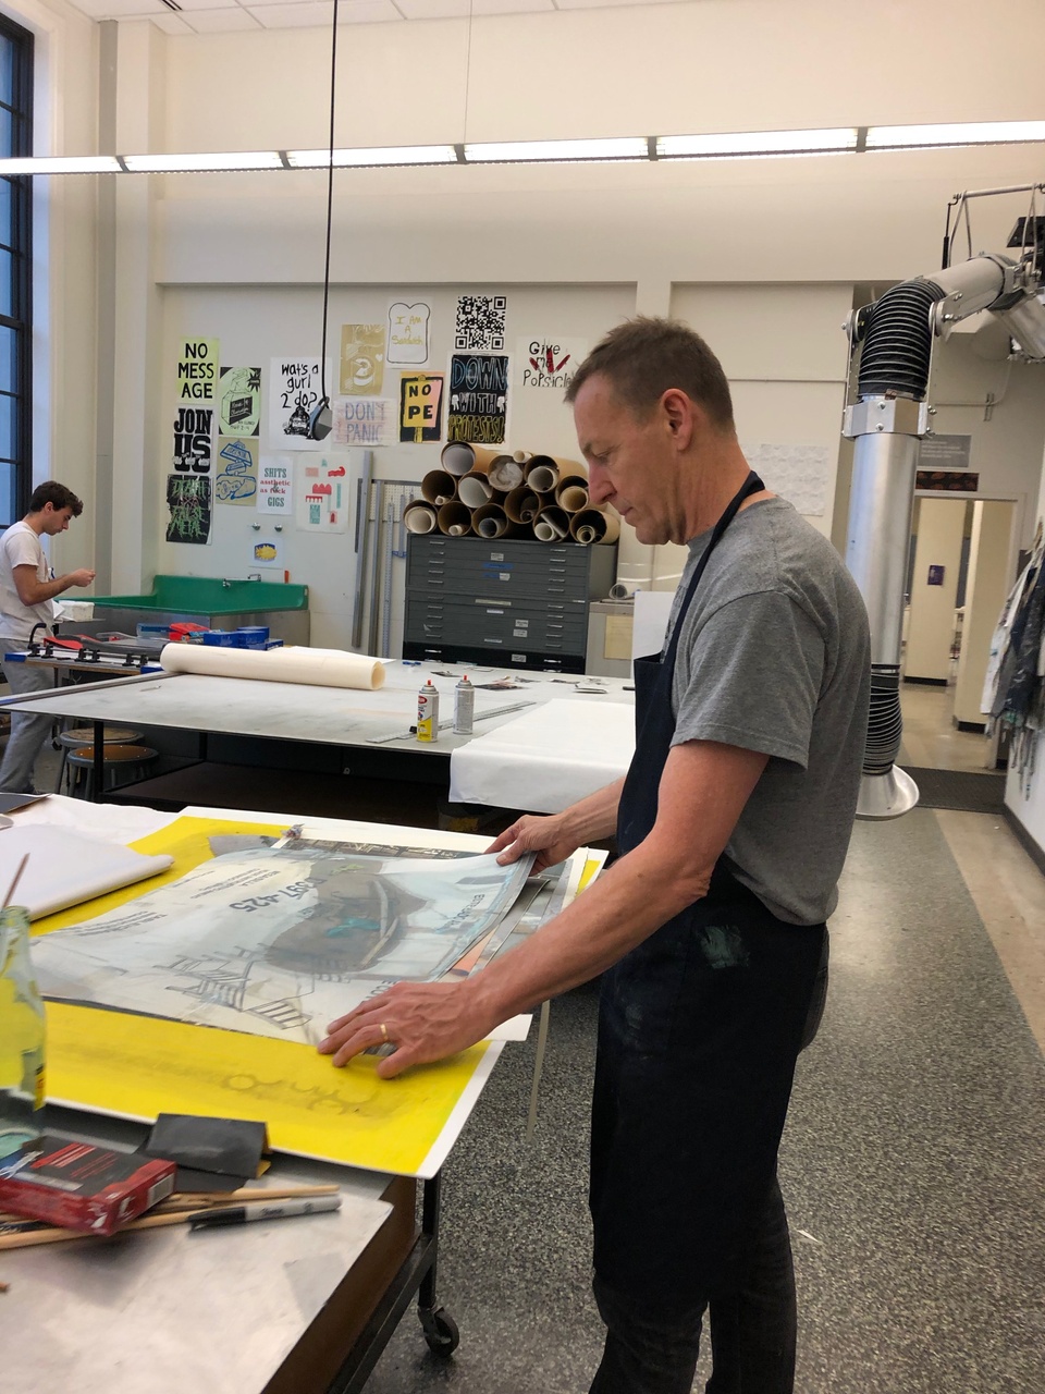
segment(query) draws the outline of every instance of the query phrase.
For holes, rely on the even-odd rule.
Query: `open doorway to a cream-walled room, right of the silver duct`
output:
[[[980,705],[1014,579],[1014,527],[1013,499],[915,495],[900,668],[906,768],[1005,767]]]

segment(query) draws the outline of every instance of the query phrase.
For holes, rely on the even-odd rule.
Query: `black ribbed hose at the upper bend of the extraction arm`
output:
[[[867,311],[857,382],[861,397],[897,393],[924,400],[932,350],[929,308],[945,296],[934,282],[918,276],[886,290]]]

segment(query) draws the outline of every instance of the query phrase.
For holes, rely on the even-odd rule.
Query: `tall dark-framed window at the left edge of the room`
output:
[[[32,35],[0,15],[0,156],[32,155]],[[0,176],[0,528],[32,493],[32,178]]]

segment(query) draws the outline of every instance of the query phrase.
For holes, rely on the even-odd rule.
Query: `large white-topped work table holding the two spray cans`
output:
[[[454,687],[465,672],[479,684],[472,736],[457,736],[447,726],[438,742],[418,742],[410,732],[417,721],[418,689],[432,679],[440,696],[440,722],[451,723]],[[502,677],[514,686],[507,690],[481,686]],[[621,722],[619,708],[634,705],[631,683],[620,677],[538,676],[503,668],[477,669],[463,664],[389,662],[385,686],[376,691],[171,673],[61,687],[36,697],[8,698],[4,705],[14,711],[49,712],[56,718],[68,717],[98,725],[109,722],[192,730],[203,737],[248,736],[312,746],[350,746],[369,753],[375,761],[385,753],[394,753],[401,767],[403,757],[411,763],[417,757],[424,761],[442,760],[446,764],[454,751],[470,742],[524,714],[534,717],[549,703],[584,703],[585,728],[594,733],[596,744],[603,725],[599,708],[607,708],[603,740],[606,779],[601,782],[616,778],[614,771],[619,771],[621,760],[627,765],[630,758],[630,750],[620,740],[626,722]],[[532,751],[535,761],[560,761],[559,730],[560,723],[555,729],[549,728],[548,742],[538,743]],[[206,751],[203,758],[208,758]],[[499,754],[490,747],[489,756],[479,753],[477,760],[489,760],[490,765],[496,765]],[[568,765],[568,760],[566,763]],[[449,778],[449,771],[443,778]],[[560,778],[559,783],[563,785],[564,781]],[[566,785],[568,786],[568,781]],[[95,788],[100,786],[99,768]],[[518,802],[511,778],[497,781],[493,776],[488,786],[492,797],[465,802],[527,807]],[[575,796],[587,792],[589,790],[585,788]]]

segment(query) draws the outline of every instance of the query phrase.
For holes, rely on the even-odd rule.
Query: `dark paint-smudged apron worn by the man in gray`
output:
[[[764,488],[750,474],[719,519],[663,657],[635,659],[621,856],[656,821],[686,612],[740,505]],[[617,1292],[690,1309],[736,1281],[748,1217],[773,1185],[825,935],[777,920],[723,855],[706,896],[603,974],[589,1204],[595,1271]]]

